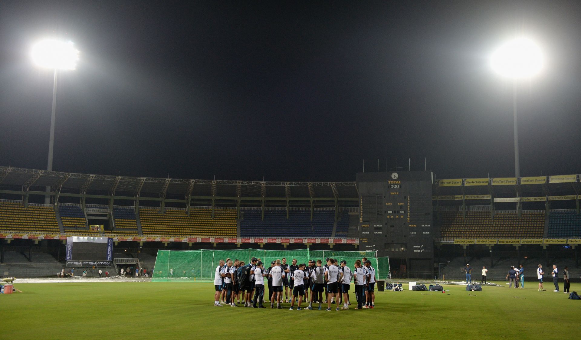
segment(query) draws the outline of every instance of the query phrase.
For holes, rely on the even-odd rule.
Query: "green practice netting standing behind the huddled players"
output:
[[[376,270],[378,277],[385,277],[380,272],[376,252],[344,252],[335,250],[264,250],[264,249],[234,249],[234,250],[157,250],[157,258],[153,269],[152,281],[213,281],[214,271],[220,260],[238,259],[246,264],[256,257],[270,266],[270,262],[286,257],[287,263],[293,259],[297,263],[307,263],[310,259],[322,260],[332,257],[340,261],[346,260],[350,267],[361,257],[367,257]],[[388,261],[389,271],[389,261]]]

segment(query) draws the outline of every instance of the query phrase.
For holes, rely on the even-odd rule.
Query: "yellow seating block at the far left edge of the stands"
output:
[[[0,202],[0,230],[59,232],[59,224],[52,207]]]

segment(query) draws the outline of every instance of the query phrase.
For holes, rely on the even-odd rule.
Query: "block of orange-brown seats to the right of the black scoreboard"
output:
[[[543,237],[544,213],[497,213],[470,211],[464,219],[462,212],[441,212],[440,230],[443,238],[453,237]]]

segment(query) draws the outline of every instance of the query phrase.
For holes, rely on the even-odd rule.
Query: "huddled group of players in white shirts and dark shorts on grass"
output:
[[[327,257],[323,266],[321,260],[310,260],[309,264],[286,263],[286,258],[271,262],[271,266],[252,257],[249,264],[240,260],[220,260],[214,275],[214,306],[229,305],[266,308],[263,306],[265,283],[268,287],[267,299],[271,308],[282,309],[281,299],[290,303],[290,310],[301,310],[303,302],[309,302],[306,309],[321,310],[322,303],[327,303],[327,310],[349,309],[350,283],[355,284],[355,309],[373,309],[375,307],[375,269],[366,257],[356,260],[354,270],[346,261],[340,263]],[[309,292],[310,290],[310,292]],[[325,292],[325,299],[323,298]],[[290,293],[290,294],[289,294]],[[237,302],[236,302],[237,300]],[[313,303],[318,303],[318,307]],[[343,305],[339,308],[339,305]]]

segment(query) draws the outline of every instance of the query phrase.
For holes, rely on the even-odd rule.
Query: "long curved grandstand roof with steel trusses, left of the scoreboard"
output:
[[[63,192],[105,195],[357,198],[355,182],[267,182],[128,177],[0,166],[0,189],[28,191],[46,186]]]

